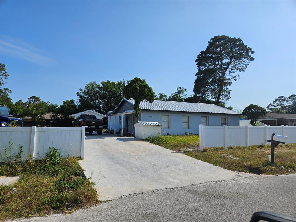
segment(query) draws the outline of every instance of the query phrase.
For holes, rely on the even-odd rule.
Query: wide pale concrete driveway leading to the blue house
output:
[[[86,133],[86,177],[96,183],[100,200],[238,177],[235,172],[131,137]]]

